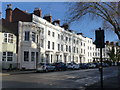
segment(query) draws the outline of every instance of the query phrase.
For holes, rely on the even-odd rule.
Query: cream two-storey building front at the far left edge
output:
[[[12,33],[0,32],[0,62],[2,68],[8,69],[9,67],[17,67],[17,54],[16,54],[16,36]],[[10,66],[11,64],[11,66]]]

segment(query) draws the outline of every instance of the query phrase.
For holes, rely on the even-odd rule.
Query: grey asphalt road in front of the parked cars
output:
[[[104,78],[118,74],[117,67],[106,67]],[[84,88],[100,80],[98,69],[69,70],[3,76],[3,88]]]

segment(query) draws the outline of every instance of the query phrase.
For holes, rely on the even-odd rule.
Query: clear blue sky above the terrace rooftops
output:
[[[45,14],[51,14],[53,20],[60,19],[61,25],[67,18],[67,4],[64,2],[3,2],[2,3],[2,17],[5,17],[5,9],[7,4],[12,4],[13,9],[16,7],[21,10],[27,10],[32,13],[34,8],[38,7],[42,10],[42,17]],[[88,16],[82,19],[80,22],[74,22],[71,24],[70,29],[76,32],[82,32],[84,36],[95,38],[95,30],[102,27],[101,20],[91,20]],[[105,31],[105,40],[117,41],[117,36],[113,31]]]

